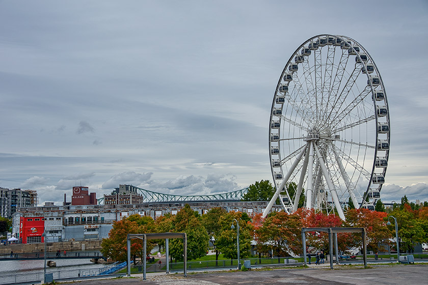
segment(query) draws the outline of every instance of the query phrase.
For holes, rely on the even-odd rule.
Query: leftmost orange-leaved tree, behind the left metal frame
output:
[[[109,238],[103,239],[101,242],[101,252],[105,257],[115,261],[126,261],[127,259],[127,235],[128,234],[143,234],[150,233],[153,220],[150,222],[150,217],[143,217],[140,220],[140,215],[131,215],[121,221],[116,221],[109,233]],[[150,242],[147,242],[147,252],[153,248]],[[144,257],[144,245],[140,239],[131,240],[130,252],[132,256],[137,255],[142,260]]]

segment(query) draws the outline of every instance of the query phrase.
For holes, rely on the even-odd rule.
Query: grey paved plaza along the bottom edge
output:
[[[131,278],[79,280],[79,285],[224,285],[224,284],[427,284],[428,265],[362,266],[263,269],[252,271],[213,271],[183,274],[152,273],[143,280],[142,274]],[[74,283],[74,282],[72,282]]]

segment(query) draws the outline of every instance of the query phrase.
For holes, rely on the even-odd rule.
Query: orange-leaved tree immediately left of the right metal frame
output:
[[[257,230],[260,240],[279,257],[302,252],[302,222],[297,214],[272,212]]]

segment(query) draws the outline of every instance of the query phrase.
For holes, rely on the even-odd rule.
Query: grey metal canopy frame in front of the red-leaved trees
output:
[[[337,233],[361,233],[363,238],[363,258],[364,267],[367,267],[367,233],[364,227],[302,227],[302,246],[303,246],[303,258],[306,265],[306,233],[307,232],[323,232],[329,234],[329,255],[330,255],[330,269],[333,269],[333,241],[335,243],[336,251],[336,264],[339,264],[338,250],[337,250]]]

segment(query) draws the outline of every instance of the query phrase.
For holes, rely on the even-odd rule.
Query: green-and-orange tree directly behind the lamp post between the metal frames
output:
[[[221,234],[218,237],[217,245],[225,258],[237,259],[237,243],[236,243],[236,224],[235,229],[231,229],[233,219],[239,223],[239,257],[247,258],[250,256],[251,240],[252,240],[252,224],[242,219],[241,212],[228,212],[220,217]]]

